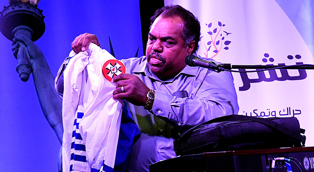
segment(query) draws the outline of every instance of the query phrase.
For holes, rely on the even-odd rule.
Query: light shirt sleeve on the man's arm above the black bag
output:
[[[175,127],[186,128],[212,118],[238,113],[237,96],[230,72],[209,72],[193,98],[156,91],[151,112]]]

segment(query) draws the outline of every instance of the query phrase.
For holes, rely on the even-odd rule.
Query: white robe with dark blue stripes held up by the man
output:
[[[74,170],[89,172],[103,163],[113,168],[117,149],[123,101],[114,100],[116,86],[102,73],[105,61],[115,59],[107,51],[91,43],[85,52],[75,54],[63,73],[63,172],[69,171],[73,123],[78,107],[84,113],[79,122],[79,133],[86,146],[89,168]],[[79,101],[80,100],[80,101]]]

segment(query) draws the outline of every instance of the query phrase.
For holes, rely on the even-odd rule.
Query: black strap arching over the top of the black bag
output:
[[[261,118],[261,117],[253,117],[253,116],[245,116],[245,115],[226,115],[226,116],[221,116],[221,117],[217,117],[217,118],[213,118],[207,122],[201,123],[199,125],[196,125],[190,129],[188,129],[187,131],[185,131],[184,133],[182,133],[182,135],[180,136],[180,139],[182,139],[184,137],[184,135],[189,135],[194,129],[198,128],[201,125],[204,124],[210,124],[210,123],[215,123],[215,122],[222,122],[222,121],[237,121],[237,120],[252,120],[252,121],[256,121],[256,122],[260,122],[264,125],[267,125],[271,128],[274,128],[300,142],[303,143],[304,137],[301,134],[297,134],[295,132],[293,132],[291,129],[277,123],[274,122],[270,119],[267,118]],[[304,143],[303,143],[304,145]]]

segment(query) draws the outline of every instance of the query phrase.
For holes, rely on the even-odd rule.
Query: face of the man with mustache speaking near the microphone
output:
[[[184,47],[183,27],[180,17],[160,15],[150,29],[146,57],[148,67],[160,79],[175,77],[186,65],[184,58],[193,51],[195,41]]]

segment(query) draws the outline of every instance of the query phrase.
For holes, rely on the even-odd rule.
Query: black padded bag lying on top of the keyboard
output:
[[[176,155],[226,150],[305,146],[305,130],[296,117],[217,117],[197,125],[174,141]]]

